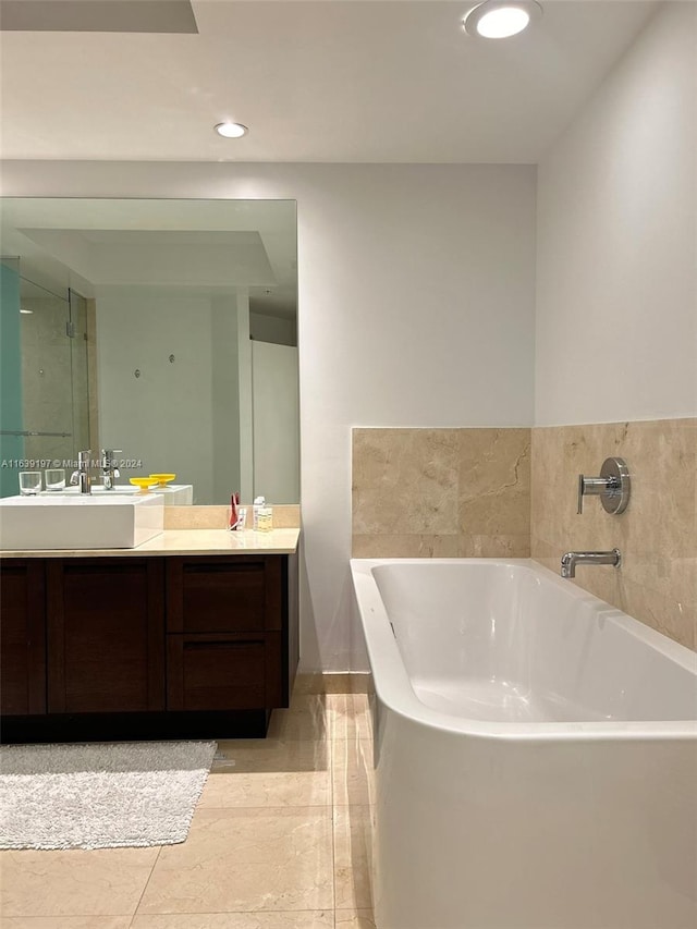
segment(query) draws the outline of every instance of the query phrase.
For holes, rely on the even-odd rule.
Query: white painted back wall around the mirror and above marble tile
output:
[[[14,196],[297,199],[302,663],[360,661],[352,426],[529,426],[531,166],[5,162]]]

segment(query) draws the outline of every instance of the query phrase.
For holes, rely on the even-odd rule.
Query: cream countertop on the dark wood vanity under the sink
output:
[[[0,558],[127,558],[167,554],[293,554],[297,550],[298,528],[255,533],[245,529],[164,529],[133,549],[37,549],[0,551]]]

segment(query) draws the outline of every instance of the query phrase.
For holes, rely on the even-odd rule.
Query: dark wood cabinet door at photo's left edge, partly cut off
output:
[[[46,712],[44,561],[3,559],[0,591],[0,708],[7,716]]]

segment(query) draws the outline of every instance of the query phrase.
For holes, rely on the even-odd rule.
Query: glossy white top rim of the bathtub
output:
[[[597,741],[694,741],[697,747],[697,718],[695,720],[646,720],[584,722],[493,722],[464,719],[431,709],[421,702],[412,687],[402,656],[396,645],[387,609],[380,597],[372,570],[381,565],[424,564],[497,564],[530,570],[541,577],[563,587],[574,599],[584,600],[596,608],[606,622],[625,629],[641,639],[650,648],[686,669],[695,676],[697,688],[697,653],[652,629],[639,620],[624,613],[583,588],[562,579],[548,567],[530,558],[379,558],[350,560],[358,615],[370,662],[376,695],[392,712],[451,734],[465,734],[477,738],[503,739],[506,742],[549,743],[597,742]],[[376,622],[368,624],[364,608],[370,611]],[[376,667],[380,670],[376,673]],[[697,689],[696,689],[697,694]],[[696,697],[697,699],[697,697]],[[697,707],[696,707],[697,717]]]

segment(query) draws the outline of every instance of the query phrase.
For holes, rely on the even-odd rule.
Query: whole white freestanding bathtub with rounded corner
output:
[[[351,567],[379,929],[695,929],[697,655],[526,559]]]

